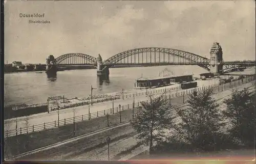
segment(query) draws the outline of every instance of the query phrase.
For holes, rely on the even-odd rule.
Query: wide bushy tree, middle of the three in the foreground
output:
[[[188,97],[188,107],[176,110],[180,122],[175,126],[172,139],[176,142],[191,144],[194,149],[211,150],[217,145],[216,138],[221,136],[224,123],[218,104],[211,97],[212,89],[194,91]]]

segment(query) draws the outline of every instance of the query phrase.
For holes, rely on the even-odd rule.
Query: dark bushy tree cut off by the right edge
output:
[[[255,141],[255,93],[249,92],[248,88],[235,90],[224,103],[227,110],[223,114],[230,120],[231,136],[250,145]]]

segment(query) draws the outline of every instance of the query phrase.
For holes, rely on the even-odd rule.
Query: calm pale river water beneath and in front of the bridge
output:
[[[50,96],[81,98],[91,94],[91,85],[97,88],[93,94],[131,90],[139,77],[156,77],[166,67],[174,75],[194,74],[198,77],[207,72],[199,66],[110,68],[109,80],[103,82],[97,77],[96,69],[59,71],[57,78],[51,80],[45,72],[9,73],[4,76],[5,105],[45,103]]]

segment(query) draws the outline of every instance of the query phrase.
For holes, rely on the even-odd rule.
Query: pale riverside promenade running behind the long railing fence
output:
[[[217,85],[219,83],[218,79],[212,79],[212,80],[197,80],[198,82],[198,89],[202,87],[207,87],[210,85]],[[176,90],[172,90],[172,88],[178,88]],[[163,94],[166,89],[166,95],[171,94],[171,98],[175,98],[177,96],[180,96],[183,92],[191,92],[191,90],[194,90],[195,88],[191,88],[186,90],[181,90],[179,89],[179,84],[177,85],[172,85],[172,86],[166,86],[166,87],[161,87],[161,88],[155,88],[155,89],[148,89],[147,93],[148,94],[154,94],[155,96]],[[103,112],[105,110],[105,114],[109,113],[111,114],[111,108],[113,109],[113,104],[114,104],[114,109],[116,112],[116,108],[119,110],[119,104],[121,106],[127,106],[127,104],[132,104],[133,101],[135,101],[135,104],[138,104],[140,101],[147,100],[147,95],[145,94],[146,90],[142,90],[138,96],[134,97],[133,100],[133,94],[131,94],[131,97],[128,96],[127,99],[117,99],[114,101],[108,101],[108,102],[102,102],[102,103],[95,103],[93,105],[83,105],[83,106],[76,106],[72,108],[66,108],[63,110],[59,111],[52,111],[49,114],[48,113],[40,113],[40,114],[35,114],[35,115],[30,115],[27,117],[19,117],[17,118],[17,128],[25,128],[28,124],[28,126],[36,126],[38,124],[44,124],[48,122],[53,122],[57,120],[63,120],[63,119],[68,119],[68,118],[73,118],[74,115],[80,116],[80,115],[88,115],[89,114],[89,106],[90,106],[90,113],[97,113],[97,112]],[[143,93],[143,95],[142,95]],[[135,94],[136,95],[136,94]],[[173,96],[174,95],[174,96]],[[132,105],[130,105],[132,107]],[[12,119],[7,119],[5,120],[5,131],[8,130],[13,130],[16,128],[16,118]],[[42,128],[43,130],[44,128]]]

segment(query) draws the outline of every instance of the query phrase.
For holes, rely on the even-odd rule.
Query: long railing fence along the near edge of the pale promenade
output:
[[[208,88],[217,89],[217,87],[218,87],[218,92],[221,92],[223,90],[231,88],[232,85],[234,87],[236,87],[237,81],[238,81],[237,86],[239,86],[241,84],[249,83],[249,81],[254,80],[254,79],[255,79],[255,75],[246,77],[244,79],[234,79],[233,81],[230,81],[230,83],[226,83],[226,84],[219,83],[219,84],[204,86],[204,87],[200,87],[200,88],[193,88],[193,89],[186,90],[186,91],[169,93],[169,94],[166,94],[164,98],[169,99],[169,101],[170,101],[170,99],[172,99],[172,98],[183,96],[183,103],[184,103],[184,95],[189,95],[190,93],[193,93],[193,91],[200,92],[204,89],[208,89]],[[229,84],[229,87],[228,87],[228,84]],[[170,90],[172,90],[172,89],[170,89],[170,88],[166,89],[166,91],[170,91]],[[165,92],[165,89],[160,89],[157,91],[156,92],[153,91],[151,93],[160,93],[160,91]],[[148,100],[146,100],[146,102],[148,102]],[[80,115],[80,116],[76,116],[76,117],[71,117],[71,118],[67,118],[67,119],[62,119],[62,120],[58,120],[58,121],[55,120],[55,121],[47,122],[47,123],[43,123],[43,124],[37,124],[37,125],[32,125],[32,126],[23,127],[23,128],[20,127],[20,128],[12,129],[12,130],[6,130],[5,137],[12,136],[12,135],[26,134],[26,133],[31,133],[31,132],[35,132],[35,131],[46,130],[46,129],[50,129],[50,128],[73,124],[73,123],[77,123],[77,122],[84,121],[84,120],[90,120],[90,119],[106,116],[109,114],[116,114],[118,112],[120,113],[121,111],[124,111],[124,110],[134,110],[135,108],[138,108],[139,106],[140,106],[140,102],[130,103],[130,104],[122,105],[122,106],[120,106],[120,108],[119,107],[109,108],[107,110],[98,111],[98,112],[90,113],[90,114],[86,114],[86,115]]]

